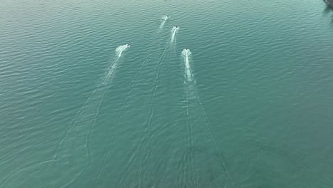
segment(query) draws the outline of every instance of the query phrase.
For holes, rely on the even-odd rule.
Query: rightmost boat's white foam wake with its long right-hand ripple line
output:
[[[189,58],[191,57],[191,51],[189,49],[184,49],[182,51],[182,56],[184,57],[184,63],[185,63],[185,78],[186,78],[186,103],[188,103],[187,110],[189,110],[190,100],[197,100],[199,103],[199,106],[201,108],[201,113],[203,115],[203,118],[205,120],[205,125],[208,128],[208,132],[211,135],[211,138],[213,139],[215,143],[216,150],[218,151],[218,159],[220,160],[222,167],[224,171],[226,172],[226,178],[228,179],[228,184],[230,187],[233,187],[233,182],[231,180],[230,172],[228,171],[228,168],[226,167],[226,162],[223,160],[223,156],[221,155],[221,151],[218,149],[218,142],[216,139],[216,136],[213,134],[213,130],[211,129],[211,122],[208,120],[206,110],[203,108],[203,104],[201,103],[199,94],[196,91],[195,88],[195,81],[193,78],[193,74],[191,73],[191,66],[189,63]]]

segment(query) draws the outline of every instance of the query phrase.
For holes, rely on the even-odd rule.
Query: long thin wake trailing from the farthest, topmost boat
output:
[[[163,16],[162,17],[162,23],[160,24],[159,28],[157,28],[157,31],[155,32],[154,34],[154,38],[152,39],[152,42],[149,43],[149,48],[148,48],[148,51],[147,51],[147,54],[146,56],[144,57],[144,61],[142,61],[140,67],[139,67],[139,71],[137,71],[137,73],[134,75],[134,78],[132,79],[132,82],[131,82],[131,85],[130,85],[130,88],[129,88],[129,92],[127,93],[126,95],[126,98],[125,98],[125,102],[124,104],[122,105],[122,108],[120,110],[120,115],[119,117],[117,118],[117,122],[116,122],[116,125],[115,125],[115,134],[114,136],[112,137],[112,140],[110,142],[110,145],[107,149],[107,155],[104,155],[103,158],[102,158],[102,167],[100,169],[100,172],[98,172],[98,176],[97,176],[97,181],[95,183],[95,185],[97,187],[99,187],[99,182],[100,182],[100,178],[102,176],[102,174],[104,173],[105,171],[105,163],[107,162],[107,159],[110,158],[110,152],[112,150],[112,147],[114,146],[114,143],[115,143],[115,140],[117,138],[117,135],[118,135],[118,127],[120,125],[120,122],[122,121],[122,118],[123,116],[125,115],[125,111],[127,109],[127,106],[128,106],[128,103],[129,103],[129,98],[131,97],[132,95],[132,90],[134,88],[134,85],[137,85],[137,78],[139,77],[139,74],[141,73],[142,71],[142,68],[144,67],[144,65],[147,63],[147,60],[149,58],[149,55],[152,51],[152,46],[154,44],[154,41],[156,41],[157,39],[157,36],[159,35],[159,33],[163,30],[163,27],[164,27],[164,24],[166,23],[166,21],[169,19],[169,16]]]

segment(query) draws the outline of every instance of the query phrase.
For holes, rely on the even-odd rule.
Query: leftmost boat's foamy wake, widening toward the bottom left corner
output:
[[[106,75],[97,85],[90,97],[85,101],[83,106],[74,117],[65,135],[58,143],[58,149],[51,160],[33,163],[6,177],[0,187],[9,187],[8,184],[24,184],[25,182],[39,182],[38,179],[49,179],[51,176],[58,177],[57,182],[48,182],[48,184],[36,184],[35,187],[69,187],[90,165],[90,133],[95,126],[96,118],[100,112],[102,101],[115,74],[115,68],[119,63],[122,53],[129,45],[120,46],[115,51],[115,60],[110,64]],[[78,168],[86,164],[83,168]],[[38,169],[38,170],[36,170]],[[52,174],[52,175],[51,175]],[[31,176],[29,176],[31,175]],[[17,179],[20,179],[17,182]],[[13,186],[21,187],[21,186]]]

